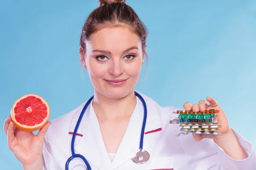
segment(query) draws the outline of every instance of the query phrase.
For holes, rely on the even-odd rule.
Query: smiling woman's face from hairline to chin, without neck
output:
[[[134,91],[144,54],[139,37],[125,27],[103,28],[86,42],[82,61],[94,90],[119,99]]]

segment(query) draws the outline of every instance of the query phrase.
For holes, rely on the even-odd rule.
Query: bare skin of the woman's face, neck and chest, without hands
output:
[[[93,52],[97,49],[102,52]],[[105,56],[100,58],[104,62],[97,56]],[[126,27],[103,28],[86,43],[86,54],[81,59],[94,87],[93,108],[105,147],[108,153],[116,153],[136,105],[134,88],[144,60],[140,39]],[[106,82],[113,79],[127,80],[122,86]]]

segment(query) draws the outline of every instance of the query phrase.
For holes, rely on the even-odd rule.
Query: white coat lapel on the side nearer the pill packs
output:
[[[140,134],[143,124],[144,110],[142,102],[138,97],[136,98],[136,107],[118,147],[116,155],[112,161],[114,169],[136,156],[140,148]],[[143,98],[146,102],[146,107],[148,110],[145,133],[151,133],[152,131],[154,132],[154,130],[161,129],[160,119],[157,113],[157,108],[155,107],[155,104],[151,102],[151,99],[148,99],[147,96],[143,96]],[[154,136],[150,136],[148,138],[148,136],[144,134],[143,150],[147,150],[151,146],[151,142],[153,142],[151,141],[152,139],[154,139]]]

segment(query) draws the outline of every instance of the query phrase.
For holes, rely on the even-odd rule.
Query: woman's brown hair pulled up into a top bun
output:
[[[90,13],[81,32],[81,60],[84,59],[86,42],[90,40],[90,36],[106,26],[127,26],[140,38],[143,53],[147,57],[145,48],[148,31],[133,8],[125,0],[99,0],[99,7]]]

